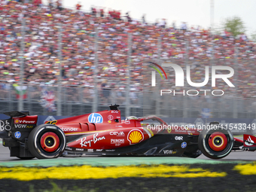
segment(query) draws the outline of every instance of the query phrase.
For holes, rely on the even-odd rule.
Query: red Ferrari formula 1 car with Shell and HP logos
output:
[[[12,111],[0,120],[2,144],[11,157],[21,159],[59,156],[179,156],[226,157],[233,149],[256,150],[256,138],[233,134],[218,123],[198,131],[189,126],[169,126],[159,117],[126,117],[121,120],[119,105],[110,110],[83,114],[37,125],[38,116]]]

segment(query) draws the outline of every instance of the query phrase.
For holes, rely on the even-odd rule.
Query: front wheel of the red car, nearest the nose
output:
[[[233,148],[233,134],[226,127],[203,130],[198,138],[200,151],[211,159],[221,159],[230,154]]]

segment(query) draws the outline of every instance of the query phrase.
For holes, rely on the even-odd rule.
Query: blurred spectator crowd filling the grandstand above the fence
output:
[[[1,81],[20,81],[20,63],[24,58],[25,82],[56,84],[61,63],[62,84],[93,87],[97,56],[99,87],[125,90],[128,34],[131,33],[131,94],[151,86],[151,81],[143,82],[142,63],[161,59],[182,67],[190,65],[194,82],[203,82],[205,66],[230,66],[238,72],[231,80],[236,85],[236,93],[227,90],[224,82],[217,84],[218,89],[245,98],[256,95],[256,44],[245,34],[237,38],[225,31],[212,35],[209,29],[188,28],[187,23],[182,23],[181,27],[176,27],[175,23],[167,26],[164,19],[147,23],[145,15],[141,21],[133,20],[130,13],[105,8],[92,7],[87,12],[79,2],[74,9],[62,8],[60,0],[49,1],[47,5],[39,0],[0,3]],[[22,20],[26,23],[24,39]],[[59,25],[62,27],[62,60],[59,60]],[[97,53],[94,51],[96,28],[99,31]],[[21,52],[22,40],[24,53]],[[174,85],[174,74],[167,70],[167,75],[169,81],[162,88],[173,89],[169,84]]]

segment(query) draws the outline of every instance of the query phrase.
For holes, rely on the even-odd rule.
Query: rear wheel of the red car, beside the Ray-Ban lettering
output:
[[[66,136],[56,125],[42,124],[29,134],[28,147],[38,159],[56,158],[66,148]]]

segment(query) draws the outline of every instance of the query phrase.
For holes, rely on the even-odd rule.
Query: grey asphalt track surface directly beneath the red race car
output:
[[[80,158],[80,157],[59,157],[58,160],[61,161],[64,158],[65,159],[69,158],[71,160],[73,158]],[[82,158],[91,158],[91,157],[82,157]],[[111,158],[116,158],[116,160],[118,161],[120,159],[123,160],[123,158],[126,158],[126,157],[111,157]],[[129,157],[129,159],[130,158],[131,157]],[[164,158],[164,157],[159,157],[159,158]],[[172,158],[175,158],[175,157],[172,157]],[[206,160],[206,162],[207,162],[208,160],[211,160],[211,159],[209,159],[208,157],[206,157],[202,154],[202,155],[200,155],[200,157],[197,157],[197,160],[200,160],[200,162],[202,162],[202,160]],[[224,157],[221,160],[215,160],[215,161],[234,161],[235,162],[235,161],[241,161],[241,160],[242,161],[255,161],[256,153],[252,152],[252,151],[232,151],[227,157]],[[17,157],[10,157],[9,149],[2,145],[2,139],[0,139],[0,164],[4,163],[4,162],[12,162],[15,164],[15,162],[17,163],[17,161],[25,161],[25,160],[20,160]],[[90,159],[89,159],[89,161],[90,161]]]

